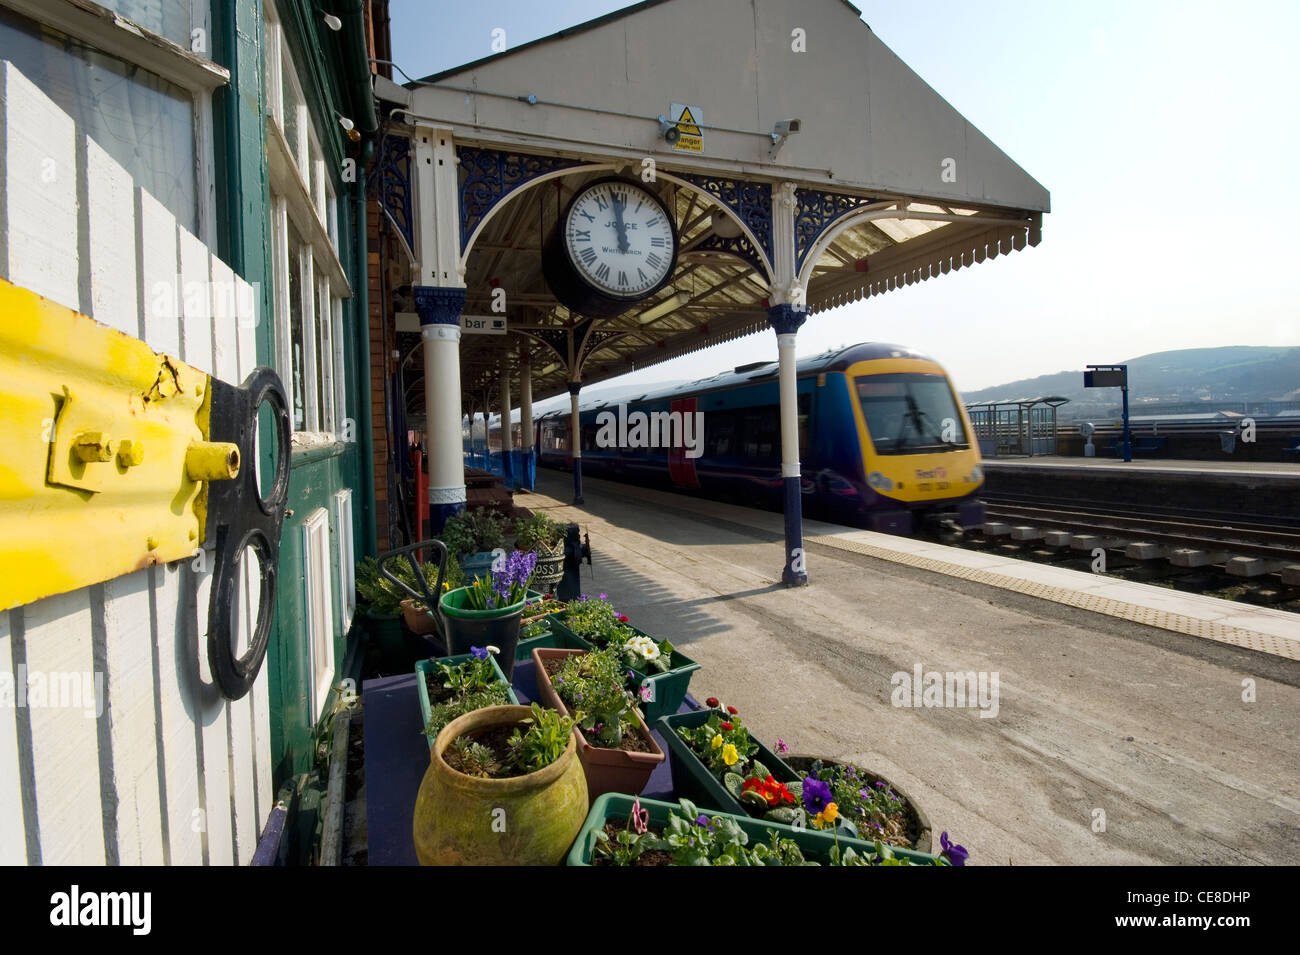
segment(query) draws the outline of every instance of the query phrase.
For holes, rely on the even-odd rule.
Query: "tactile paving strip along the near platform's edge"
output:
[[[833,547],[841,551],[853,551],[854,554],[863,554],[868,557],[889,560],[894,564],[906,564],[907,567],[915,567],[922,570],[933,570],[935,573],[946,574],[948,577],[961,577],[962,579],[974,581],[976,583],[987,583],[992,587],[1000,587],[1001,590],[1014,590],[1018,594],[1037,596],[1044,600],[1052,600],[1069,607],[1078,607],[1095,613],[1105,613],[1106,616],[1119,617],[1121,620],[1127,620],[1134,624],[1145,624],[1147,626],[1160,628],[1161,630],[1183,633],[1188,637],[1201,637],[1219,643],[1228,643],[1234,647],[1244,647],[1247,650],[1256,650],[1261,654],[1283,656],[1288,660],[1300,660],[1300,641],[1291,641],[1274,634],[1260,633],[1257,630],[1244,630],[1239,626],[1226,626],[1213,620],[1187,617],[1182,613],[1170,613],[1169,611],[1157,609],[1154,607],[1143,607],[1141,604],[1128,603],[1126,600],[1113,600],[1106,596],[1070,590],[1069,587],[1057,587],[1040,581],[1008,577],[1006,574],[998,574],[991,570],[980,570],[971,567],[962,567],[961,564],[952,564],[946,560],[923,557],[919,554],[890,551],[884,547],[874,547],[871,544],[862,543],[861,541],[852,541],[841,537],[815,535],[806,537],[805,542],[822,544],[824,547]]]

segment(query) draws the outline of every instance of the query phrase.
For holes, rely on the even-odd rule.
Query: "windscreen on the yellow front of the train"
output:
[[[941,374],[872,374],[855,379],[878,455],[968,448],[953,390]]]

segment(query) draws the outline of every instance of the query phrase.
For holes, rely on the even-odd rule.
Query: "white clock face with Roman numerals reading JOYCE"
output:
[[[562,225],[564,249],[584,282],[636,301],[660,288],[677,261],[677,233],[655,194],[625,179],[586,186]]]

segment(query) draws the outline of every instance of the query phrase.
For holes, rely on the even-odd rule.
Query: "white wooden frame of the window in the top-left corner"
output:
[[[212,8],[191,0],[191,29],[205,31],[205,53],[194,53],[165,36],[113,13],[91,0],[4,0],[27,19],[125,60],[190,94],[194,116],[194,195],[196,235],[208,248],[217,246],[217,192],[212,91],[230,83],[230,71],[212,60]],[[3,56],[3,55],[0,55]]]

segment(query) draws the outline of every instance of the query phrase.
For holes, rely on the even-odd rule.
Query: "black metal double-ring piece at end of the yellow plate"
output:
[[[289,502],[290,425],[289,399],[280,376],[257,366],[239,387],[209,379],[212,398],[209,440],[239,446],[246,464],[233,481],[208,483],[207,542],[216,547],[212,595],[208,600],[208,665],[212,678],[228,699],[240,699],[252,689],[266,656],[270,624],[276,613],[276,579],[280,567],[280,535]],[[265,498],[257,486],[257,411],[270,405],[276,421],[276,477]],[[254,507],[254,502],[257,503]],[[248,648],[235,656],[235,595],[240,559],[252,548],[261,565],[257,622]]]

